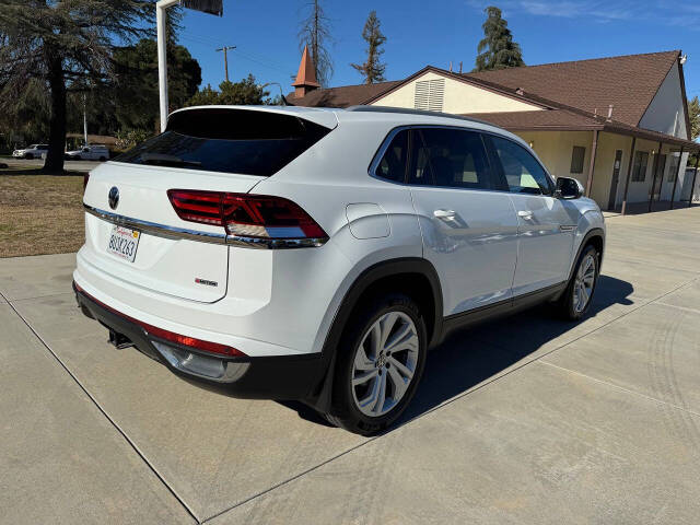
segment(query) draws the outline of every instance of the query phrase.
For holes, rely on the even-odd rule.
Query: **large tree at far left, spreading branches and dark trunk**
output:
[[[12,105],[33,79],[50,93],[45,171],[63,170],[68,93],[112,79],[113,43],[148,34],[142,21],[153,7],[149,0],[0,2],[0,105]]]

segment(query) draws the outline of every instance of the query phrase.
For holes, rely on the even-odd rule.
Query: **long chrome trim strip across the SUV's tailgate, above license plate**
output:
[[[289,248],[314,248],[326,244],[327,238],[262,238],[262,237],[245,237],[240,235],[225,235],[223,233],[198,232],[196,230],[187,230],[184,228],[167,226],[155,222],[142,221],[130,217],[119,215],[110,211],[101,210],[83,203],[86,213],[95,215],[103,221],[119,226],[139,230],[165,238],[185,238],[188,241],[198,241],[200,243],[223,244],[230,246],[240,246],[244,248],[257,249],[289,249]]]

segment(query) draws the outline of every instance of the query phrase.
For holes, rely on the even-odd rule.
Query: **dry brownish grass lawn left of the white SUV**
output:
[[[0,172],[0,257],[77,252],[85,240],[82,175]]]

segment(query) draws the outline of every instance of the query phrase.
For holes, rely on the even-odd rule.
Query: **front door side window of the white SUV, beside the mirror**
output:
[[[500,137],[491,137],[491,143],[501,161],[510,191],[551,195],[551,182],[547,173],[525,148]]]

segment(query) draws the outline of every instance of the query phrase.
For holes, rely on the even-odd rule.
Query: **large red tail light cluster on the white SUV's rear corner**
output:
[[[223,226],[229,235],[328,238],[299,205],[281,197],[189,189],[170,189],[167,196],[182,220]]]

